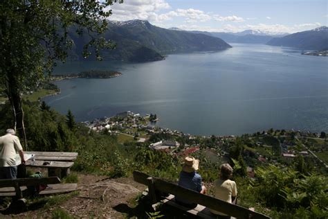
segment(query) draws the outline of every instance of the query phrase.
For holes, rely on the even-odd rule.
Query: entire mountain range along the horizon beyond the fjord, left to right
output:
[[[84,60],[83,45],[89,42],[87,35],[78,35],[72,29],[69,36],[74,42],[70,60]],[[179,28],[160,28],[148,21],[109,21],[103,34],[116,43],[116,49],[102,51],[104,60],[126,62],[150,62],[163,60],[165,55],[194,51],[220,51],[231,46],[228,43],[268,44],[290,46],[302,50],[328,50],[328,28],[322,26],[300,33],[270,33],[261,30],[244,30],[239,33],[187,31]],[[228,42],[228,43],[226,43]],[[94,57],[87,58],[89,60]]]

